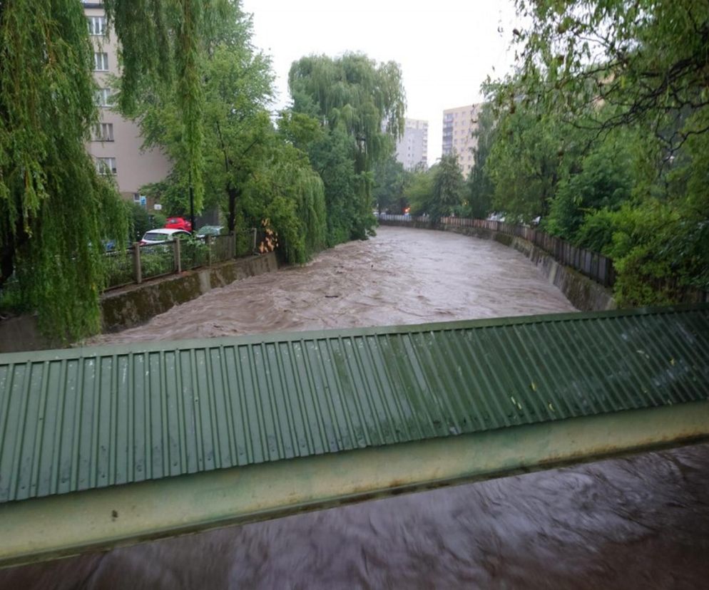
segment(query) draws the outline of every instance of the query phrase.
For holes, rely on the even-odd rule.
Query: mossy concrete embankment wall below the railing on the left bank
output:
[[[274,252],[215,264],[205,269],[171,274],[139,285],[108,291],[101,298],[103,331],[116,332],[138,326],[149,319],[216,289],[278,269]],[[0,321],[0,353],[61,348],[61,342],[44,337],[34,316]]]

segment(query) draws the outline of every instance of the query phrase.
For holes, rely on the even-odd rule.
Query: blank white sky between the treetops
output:
[[[302,56],[362,51],[399,63],[407,117],[429,122],[429,164],[441,155],[443,110],[480,102],[486,76],[514,59],[513,0],[243,0],[243,9],[255,46],[272,57],[275,108],[290,101],[288,71]]]

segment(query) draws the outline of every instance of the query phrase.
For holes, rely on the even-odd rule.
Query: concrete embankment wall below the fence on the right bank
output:
[[[596,281],[589,279],[588,276],[568,266],[559,264],[551,254],[536,247],[526,239],[493,232],[490,229],[480,227],[457,227],[418,221],[403,222],[387,220],[380,221],[380,223],[382,225],[394,225],[397,227],[437,229],[439,231],[454,232],[456,234],[482,239],[494,239],[496,242],[516,249],[529,258],[531,262],[539,266],[549,282],[557,286],[576,309],[580,309],[581,311],[599,311],[603,309],[614,309],[616,307],[610,289],[606,289],[596,283]]]

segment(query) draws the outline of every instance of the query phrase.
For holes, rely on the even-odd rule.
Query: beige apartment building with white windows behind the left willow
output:
[[[116,35],[108,35],[106,11],[101,2],[84,1],[83,11],[93,40],[93,76],[99,86],[96,102],[101,110],[100,123],[91,133],[86,150],[96,160],[99,172],[115,177],[124,198],[147,206],[140,194],[141,186],[163,180],[172,166],[160,150],[143,151],[138,125],[111,108],[108,78],[119,73]]]

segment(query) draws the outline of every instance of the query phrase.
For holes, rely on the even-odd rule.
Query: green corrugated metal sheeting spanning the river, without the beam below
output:
[[[0,355],[0,502],[709,398],[709,306]]]

